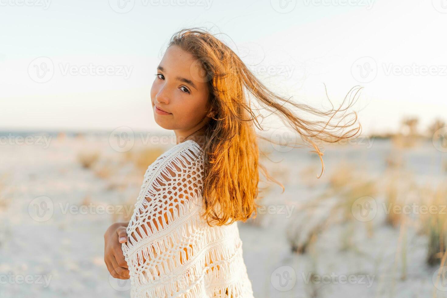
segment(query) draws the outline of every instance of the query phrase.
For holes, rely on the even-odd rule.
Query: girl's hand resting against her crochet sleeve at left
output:
[[[121,250],[127,242],[126,227],[129,222],[115,222],[104,234],[104,262],[110,275],[119,279],[129,278],[129,269]]]

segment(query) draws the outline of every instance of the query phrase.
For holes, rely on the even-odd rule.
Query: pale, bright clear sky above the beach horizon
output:
[[[295,101],[327,106],[326,84],[337,104],[362,85],[366,133],[447,118],[445,0],[119,1],[0,0],[0,130],[159,130],[149,91],[161,50],[194,26],[226,34]]]

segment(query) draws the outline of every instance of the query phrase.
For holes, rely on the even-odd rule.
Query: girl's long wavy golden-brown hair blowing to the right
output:
[[[314,148],[312,152],[321,161],[320,176],[324,163],[317,143],[354,138],[361,131],[357,113],[349,111],[362,89],[359,86],[348,92],[338,109],[332,105],[330,109],[318,110],[271,92],[229,46],[206,29],[182,29],[173,34],[169,46],[178,46],[197,59],[196,66],[202,71],[203,82],[207,82],[209,103],[215,111],[198,141],[205,159],[202,217],[210,226],[238,220],[245,222],[251,216],[256,217],[259,172],[284,191],[284,186],[259,164],[257,139],[274,142],[256,133],[255,126],[263,130],[258,118],[264,116],[252,106],[250,97],[256,99],[262,109],[277,113],[305,145]],[[316,119],[302,118],[305,113]]]

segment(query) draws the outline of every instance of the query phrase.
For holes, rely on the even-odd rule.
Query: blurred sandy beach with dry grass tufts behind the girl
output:
[[[390,181],[403,183],[407,203],[418,198],[412,185],[442,184],[445,157],[429,141],[406,149],[369,141],[327,147],[320,179],[308,149],[267,147],[272,161],[262,161],[285,192],[270,184],[257,218],[238,223],[255,297],[447,297],[434,282],[439,266],[426,262],[422,215],[393,225],[384,205]],[[131,216],[145,168],[169,146],[135,142],[118,152],[88,134],[2,145],[0,296],[129,297],[130,282],[105,267],[103,235]],[[351,210],[361,197],[376,204],[367,220]]]

